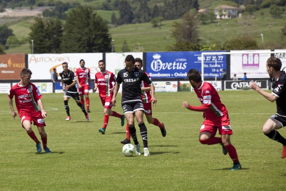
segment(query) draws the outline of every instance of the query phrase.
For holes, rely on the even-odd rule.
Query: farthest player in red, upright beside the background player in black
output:
[[[84,95],[86,97],[86,111],[90,113],[88,91],[90,90],[90,69],[84,67],[85,62],[80,60],[80,68],[76,69],[76,82],[78,83],[78,94],[80,95],[80,103],[84,105]]]

